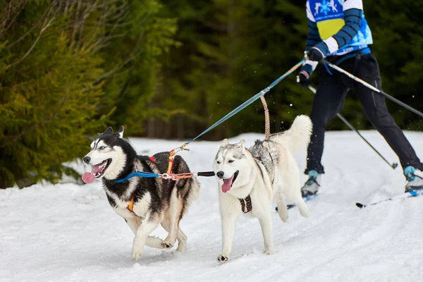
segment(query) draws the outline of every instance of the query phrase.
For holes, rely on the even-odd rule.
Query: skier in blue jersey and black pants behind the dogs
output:
[[[310,7],[314,8],[314,15]],[[372,32],[364,18],[362,0],[331,1],[330,5],[326,0],[308,0],[306,13],[309,33],[305,51],[308,59],[298,73],[300,85],[308,87],[309,77],[319,61],[326,59],[381,89],[379,66],[369,47],[373,43]],[[326,124],[338,114],[350,89],[355,90],[368,120],[400,159],[406,178],[405,192],[423,189],[423,164],[388,113],[384,96],[338,71],[330,70],[324,63],[317,71],[319,85],[310,114],[313,133],[305,169],[309,178],[302,187],[302,196],[314,195],[319,190],[321,174],[324,173],[321,156]]]

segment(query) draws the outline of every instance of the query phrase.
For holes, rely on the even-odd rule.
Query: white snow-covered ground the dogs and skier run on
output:
[[[379,133],[363,134],[387,159],[397,160]],[[406,135],[423,158],[423,133]],[[262,253],[258,221],[240,218],[230,262],[217,262],[221,223],[214,178],[199,178],[200,198],[181,222],[188,235],[185,254],[146,247],[137,262],[130,253],[133,234],[109,207],[100,181],[43,184],[0,190],[0,281],[423,281],[423,197],[358,209],[355,202],[402,193],[402,171],[389,168],[353,132],[326,136],[321,195],[307,203],[312,216],[304,219],[294,208],[283,223],[274,212],[274,255]],[[262,137],[231,141],[245,138],[251,145]],[[183,143],[130,142],[150,155]],[[181,155],[191,170],[212,170],[219,142],[189,147]],[[305,152],[298,162],[303,169]],[[155,234],[166,235],[161,228]]]

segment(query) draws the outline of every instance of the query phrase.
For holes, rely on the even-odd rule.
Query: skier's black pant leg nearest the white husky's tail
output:
[[[314,95],[310,118],[313,123],[312,136],[307,149],[307,168],[309,171],[324,173],[321,156],[324,147],[326,125],[338,114],[343,105],[347,88],[341,85],[338,75],[330,75],[324,68],[319,70],[319,87]]]

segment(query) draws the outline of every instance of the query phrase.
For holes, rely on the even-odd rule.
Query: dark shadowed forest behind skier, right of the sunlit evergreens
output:
[[[157,104],[178,106],[185,115],[162,125],[168,130],[185,123],[183,133],[172,137],[190,138],[202,132],[229,111],[252,97],[302,59],[307,37],[305,1],[164,1],[166,16],[178,17],[176,38],[182,47],[171,49],[164,61],[164,87]],[[372,27],[372,49],[379,59],[384,90],[404,102],[421,108],[417,71],[422,53],[421,23],[415,11],[419,1],[391,1],[381,9],[376,1],[364,3]],[[400,13],[398,13],[400,11]],[[393,20],[394,19],[394,20]],[[317,85],[317,75],[312,76]],[[266,94],[272,131],[281,122],[290,124],[298,114],[309,114],[313,94],[295,82],[295,74]],[[420,119],[388,102],[403,128],[421,128]],[[371,128],[362,106],[350,92],[342,114],[357,128]],[[182,121],[181,121],[182,120]],[[410,121],[415,121],[410,125]],[[333,119],[329,129],[348,129]],[[178,130],[179,132],[180,130]],[[241,111],[205,135],[221,139],[243,132],[263,132],[264,115],[260,102]],[[163,137],[156,132],[155,137]]]

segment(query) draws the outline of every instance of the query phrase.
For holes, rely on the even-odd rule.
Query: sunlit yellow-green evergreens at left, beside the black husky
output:
[[[154,0],[0,6],[0,188],[75,174],[63,163],[87,152],[115,104],[119,123],[142,116],[174,20],[158,19]]]

